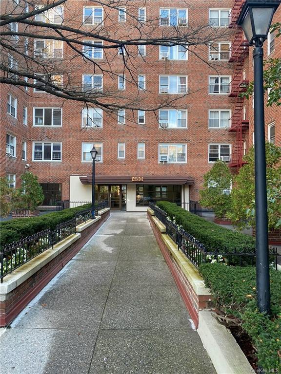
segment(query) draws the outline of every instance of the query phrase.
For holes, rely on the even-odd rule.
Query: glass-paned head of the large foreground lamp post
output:
[[[242,26],[249,45],[260,46],[267,38],[273,15],[281,0],[246,0],[237,24]]]

